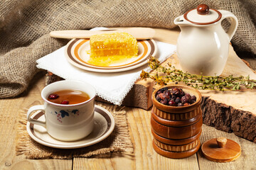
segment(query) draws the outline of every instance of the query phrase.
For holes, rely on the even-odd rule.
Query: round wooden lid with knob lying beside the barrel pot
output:
[[[203,143],[201,150],[204,157],[213,162],[231,162],[241,154],[240,145],[225,137],[218,137]]]

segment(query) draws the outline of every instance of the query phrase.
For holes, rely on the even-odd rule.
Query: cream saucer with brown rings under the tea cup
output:
[[[34,113],[32,118],[42,121],[45,120],[45,116],[41,111]],[[53,137],[48,135],[48,132],[45,128],[40,125],[34,125],[33,123],[28,122],[26,129],[28,131],[28,135],[30,135],[33,140],[40,143],[41,145],[60,149],[74,149],[94,145],[97,142],[105,140],[105,138],[108,137],[114,130],[114,118],[112,114],[106,109],[100,106],[95,106],[94,130],[90,135],[83,138],[82,140],[76,140],[72,142],[55,140]]]

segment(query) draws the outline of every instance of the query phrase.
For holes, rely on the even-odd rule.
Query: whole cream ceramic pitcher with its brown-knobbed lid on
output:
[[[227,33],[221,26],[225,18],[231,18]],[[238,28],[238,18],[229,11],[201,4],[175,18],[174,23],[181,28],[177,55],[183,72],[220,75],[228,60],[228,47]]]

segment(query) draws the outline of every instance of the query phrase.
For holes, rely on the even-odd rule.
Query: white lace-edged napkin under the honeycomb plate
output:
[[[171,57],[171,55],[176,52],[176,45],[159,41],[156,41],[156,45],[158,51],[155,57],[158,58],[160,62],[164,62],[164,60]],[[36,67],[46,69],[63,79],[85,81],[95,87],[97,96],[118,106],[122,104],[124,97],[128,94],[130,89],[132,89],[135,81],[139,79],[139,74],[142,72],[142,69],[147,72],[150,71],[148,64],[144,64],[142,67],[125,72],[89,72],[70,64],[66,60],[64,52],[65,47],[61,47],[55,52],[42,57],[36,61],[38,63]]]

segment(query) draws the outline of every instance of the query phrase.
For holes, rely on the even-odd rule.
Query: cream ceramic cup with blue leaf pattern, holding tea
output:
[[[64,89],[84,91],[90,96],[90,99],[72,105],[57,104],[47,100],[53,92]],[[56,140],[80,140],[93,130],[95,96],[95,89],[90,84],[70,80],[54,82],[46,86],[41,92],[44,105],[32,106],[28,109],[27,120],[46,128],[48,134]],[[31,118],[31,113],[34,113],[34,111],[43,111],[46,121]]]

